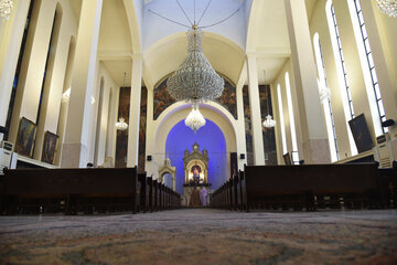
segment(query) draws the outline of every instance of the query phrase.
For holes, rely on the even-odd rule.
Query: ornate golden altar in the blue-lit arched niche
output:
[[[183,157],[184,183],[183,201],[185,206],[206,206],[210,201],[208,182],[208,152],[204,148],[200,151],[200,146],[194,142],[193,150],[185,150]]]

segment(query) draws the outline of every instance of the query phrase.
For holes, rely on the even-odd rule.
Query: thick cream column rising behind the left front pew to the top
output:
[[[83,0],[82,3],[62,167],[86,167],[89,158],[90,98],[95,85],[101,8],[103,0]]]

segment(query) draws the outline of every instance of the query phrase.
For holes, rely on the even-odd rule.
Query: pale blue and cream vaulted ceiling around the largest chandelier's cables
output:
[[[140,47],[143,49],[144,80],[152,85],[175,71],[184,59],[186,29],[169,25],[169,22],[148,11],[148,8],[153,10],[158,8],[155,11],[159,13],[163,11],[168,17],[172,15],[173,12],[170,13],[170,10],[160,9],[164,7],[165,1],[175,2],[174,0],[104,0],[98,59],[104,62],[118,85],[124,84],[125,72],[126,85],[130,85],[131,57],[133,53],[141,53]],[[208,12],[206,22],[214,21],[216,13],[222,15],[215,20],[229,13],[225,11],[227,1],[233,2],[234,8],[239,7],[244,1],[249,3],[251,1],[251,4],[242,6],[243,9],[250,7],[250,10],[239,11],[234,20],[217,25],[218,28],[206,29],[203,39],[204,54],[217,72],[237,83],[246,54],[255,53],[258,59],[259,83],[271,83],[291,53],[283,0],[216,0],[213,1],[216,4],[212,8],[218,10]],[[82,0],[71,0],[71,2],[76,18],[79,18]],[[180,2],[190,9],[193,0]],[[206,1],[201,2],[205,7]],[[318,0],[305,0],[309,21],[316,2]],[[181,10],[174,10],[174,13],[178,19],[184,18]],[[249,15],[248,19],[245,18],[246,14]],[[136,32],[139,33],[135,34]],[[133,49],[137,46],[139,49]],[[266,71],[266,81],[264,71]]]

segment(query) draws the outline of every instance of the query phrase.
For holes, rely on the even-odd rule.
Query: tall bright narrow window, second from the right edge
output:
[[[354,115],[354,108],[353,108],[353,100],[352,100],[352,94],[348,86],[347,81],[347,73],[342,51],[342,43],[341,38],[337,29],[336,23],[336,15],[335,15],[335,9],[332,3],[332,0],[328,0],[325,4],[325,13],[326,13],[326,20],[330,28],[330,34],[331,34],[331,43],[334,52],[335,63],[336,63],[336,72],[337,72],[337,78],[340,83],[341,88],[341,96],[342,96],[342,103],[343,103],[343,110],[346,119],[346,126],[347,126],[347,135],[348,135],[348,144],[351,147],[352,156],[357,155],[357,147],[355,146],[352,131],[350,130],[348,120],[355,117]]]

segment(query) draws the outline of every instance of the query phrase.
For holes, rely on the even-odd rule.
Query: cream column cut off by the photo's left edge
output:
[[[0,43],[0,126],[6,126],[30,1],[18,1],[10,19],[1,22]],[[2,135],[0,135],[0,141]]]

